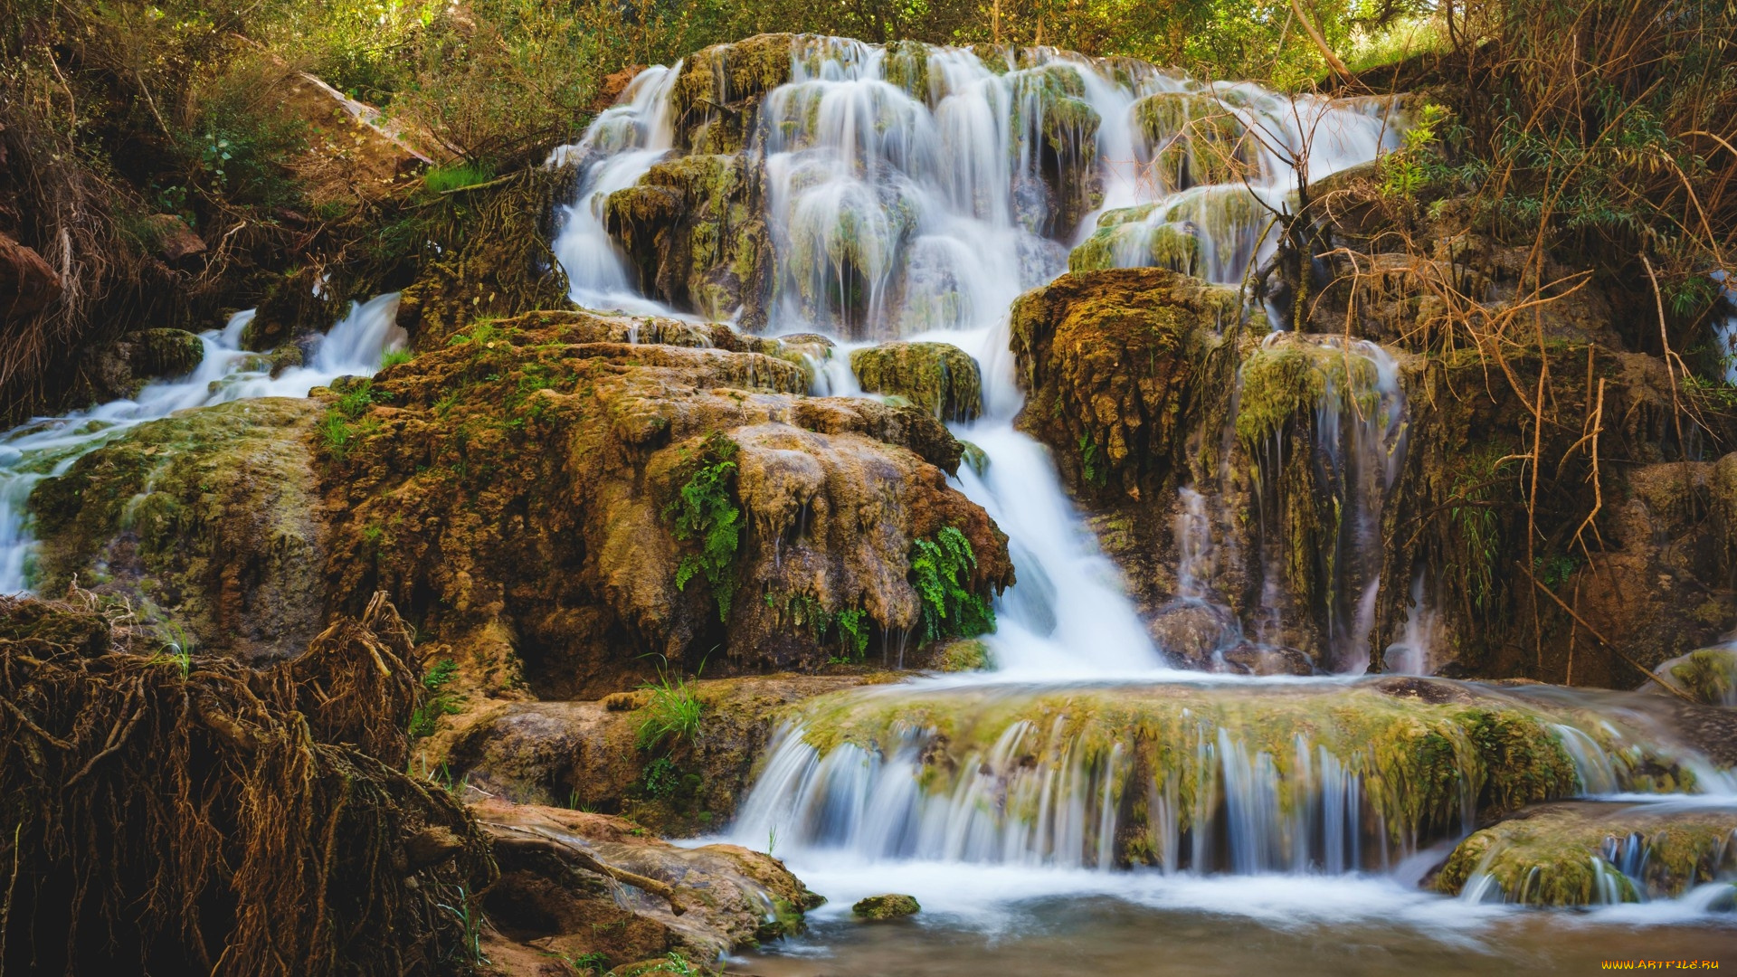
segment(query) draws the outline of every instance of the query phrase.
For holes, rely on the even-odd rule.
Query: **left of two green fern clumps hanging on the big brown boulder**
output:
[[[736,443],[714,431],[697,459],[691,475],[664,506],[664,522],[681,542],[698,541],[700,551],[688,553],[676,568],[676,589],[686,589],[703,575],[717,598],[717,619],[730,621],[735,596],[735,560],[742,542],[742,508],[735,501]]]

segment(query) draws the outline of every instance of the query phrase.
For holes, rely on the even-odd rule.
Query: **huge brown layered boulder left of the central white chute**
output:
[[[973,588],[1011,582],[1004,537],[947,483],[961,449],[940,422],[804,396],[806,372],[778,353],[728,327],[591,313],[481,323],[424,351],[373,382],[354,447],[332,459],[332,593],[379,579],[427,614],[426,635],[493,635],[495,692],[523,669],[573,697],[648,676],[646,654],[815,666],[839,655],[846,612],[865,635],[910,628],[910,548],[948,525],[976,553]],[[679,577],[700,548],[670,522],[703,466],[723,466],[717,504],[747,527],[716,584]]]

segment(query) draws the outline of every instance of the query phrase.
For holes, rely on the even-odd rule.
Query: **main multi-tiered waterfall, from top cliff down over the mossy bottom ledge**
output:
[[[1068,245],[1094,268],[1169,264],[1238,285],[1271,257],[1273,216],[1291,207],[1299,179],[1397,144],[1391,103],[1291,99],[1042,49],[987,64],[928,47],[921,71],[908,45],[889,54],[804,37],[790,56],[790,80],[764,96],[743,150],[763,174],[775,261],[766,332],[835,339],[816,395],[858,395],[844,363],[872,341],[931,339],[973,355],[983,415],[954,429],[987,466],[961,468],[959,483],[1007,534],[1020,582],[999,598],[999,631],[987,640],[997,671],[863,690],[802,716],[764,760],[733,840],[776,847],[804,876],[863,894],[884,890],[865,880],[889,864],[902,876],[948,866],[943,885],[959,883],[961,864],[1021,866],[1049,873],[1020,876],[1037,890],[1075,885],[1058,881],[1075,878],[1063,869],[1141,864],[1166,878],[1386,871],[1416,885],[1428,845],[1473,827],[1476,761],[1440,772],[1452,784],[1443,810],[1419,821],[1403,808],[1410,786],[1393,782],[1381,767],[1391,756],[1377,760],[1370,742],[1329,735],[1308,713],[1291,714],[1291,732],[1273,739],[1284,721],[1273,714],[1291,708],[1268,702],[1273,690],[1322,702],[1367,694],[1358,701],[1379,711],[1367,683],[1169,671],[1046,450],[1013,428],[1023,398],[1007,349],[1009,304],[1060,275]],[[631,273],[604,226],[604,198],[676,144],[674,76],[646,71],[582,143],[551,158],[578,167],[556,252],[582,304],[648,304],[622,294]],[[1327,537],[1329,661],[1362,671],[1381,511],[1403,459],[1397,365],[1379,346],[1337,337],[1280,336],[1263,353],[1303,356],[1318,374],[1301,442],[1337,513]],[[1226,443],[1245,435],[1237,421]],[[1263,469],[1296,450],[1285,438],[1252,438],[1271,443]],[[1212,527],[1223,516],[1199,488],[1183,502],[1179,600],[1212,601],[1223,558]],[[1277,615],[1285,595],[1275,581]],[[1237,713],[1244,688],[1263,690],[1265,718]],[[1082,727],[1065,699],[1075,692],[1110,702]],[[1134,737],[1129,702],[1188,697],[1202,699],[1164,713],[1166,737]],[[1647,789],[1641,758],[1683,754],[1645,730],[1560,720],[1569,793]],[[1701,788],[1728,784],[1707,768]],[[1299,890],[1296,904],[1315,892]]]

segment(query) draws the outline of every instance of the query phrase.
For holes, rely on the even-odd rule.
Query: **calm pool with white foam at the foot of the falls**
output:
[[[1720,970],[1737,970],[1737,916],[1671,902],[1523,911],[1424,895],[1379,878],[1127,874],[1077,880],[1100,894],[983,902],[997,873],[971,878],[985,873],[964,869],[961,892],[950,897],[929,871],[900,878],[905,873],[895,867],[879,873],[875,892],[928,894],[924,913],[860,923],[849,916],[849,901],[867,894],[860,876],[809,874],[816,876],[809,885],[832,901],[809,914],[808,935],[742,954],[731,974],[1449,977],[1593,974],[1607,960],[1718,961]],[[1013,873],[1001,881],[1011,883]]]

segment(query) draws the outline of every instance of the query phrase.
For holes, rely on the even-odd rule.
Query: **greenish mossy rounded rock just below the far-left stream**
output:
[[[290,398],[201,407],[78,459],[30,499],[38,586],[59,593],[76,577],[129,596],[148,619],[179,621],[201,650],[301,652],[327,614],[320,414]]]

